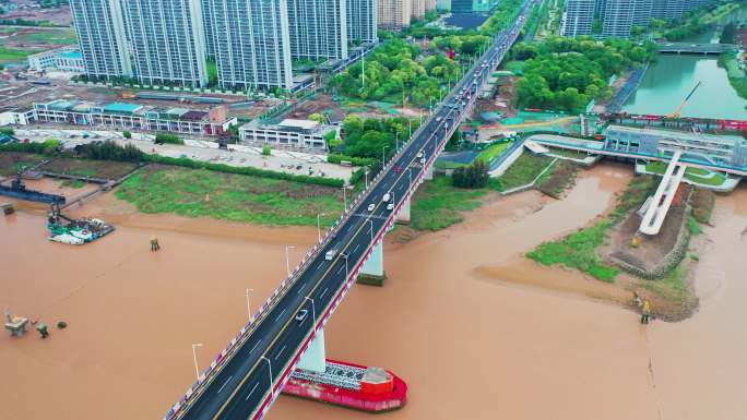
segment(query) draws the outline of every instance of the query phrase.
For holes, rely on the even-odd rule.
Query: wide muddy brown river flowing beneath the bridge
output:
[[[630,176],[603,165],[566,200],[494,197],[463,224],[387,243],[387,285],[352,290],[328,356],[408,382],[407,406],[382,419],[745,418],[747,189],[718,199],[700,310],[680,323],[642,327],[616,303],[626,292],[522,257],[603,214]],[[0,304],[69,324],[47,340],[0,335],[0,420],[161,419],[194,380],[191,344],[206,367],[246,321],[246,288],[256,309],[285,274],[285,245],[297,261],[317,235],[140,215],[110,195],[76,213],[118,230],[66,247],[45,239],[40,209],[0,218]],[[281,397],[268,418],[371,416]]]

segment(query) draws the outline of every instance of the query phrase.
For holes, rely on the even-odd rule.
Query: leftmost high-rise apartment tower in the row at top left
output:
[[[71,0],[85,72],[98,79],[132,75],[119,0]]]

